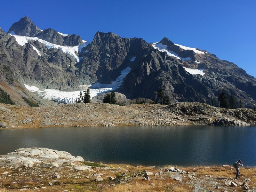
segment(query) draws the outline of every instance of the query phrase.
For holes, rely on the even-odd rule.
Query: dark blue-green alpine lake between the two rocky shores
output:
[[[67,151],[132,165],[256,165],[256,126],[114,126],[0,130],[0,154],[18,148]]]

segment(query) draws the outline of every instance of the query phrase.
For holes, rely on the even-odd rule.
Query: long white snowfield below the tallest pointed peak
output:
[[[63,52],[63,53],[70,54],[72,57],[74,57],[76,59],[77,62],[79,62],[80,59],[76,55],[76,52],[78,52],[79,50],[82,50],[83,47],[86,47],[86,45],[91,43],[91,41],[85,41],[81,45],[71,47],[71,46],[61,46],[61,45],[57,45],[57,44],[52,44],[43,39],[39,39],[38,37],[27,37],[27,36],[18,36],[18,35],[13,35],[13,36],[15,37],[18,44],[20,44],[21,46],[28,43],[29,40],[34,40],[34,41],[37,40],[40,43],[44,44],[47,47],[47,49],[57,48],[57,49],[61,50],[61,52]]]

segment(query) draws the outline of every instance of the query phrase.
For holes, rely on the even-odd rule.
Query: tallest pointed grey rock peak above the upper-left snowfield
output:
[[[14,32],[16,35],[31,36],[34,37],[41,32],[29,17],[22,17],[18,22],[12,24],[12,27],[8,30],[8,33]]]

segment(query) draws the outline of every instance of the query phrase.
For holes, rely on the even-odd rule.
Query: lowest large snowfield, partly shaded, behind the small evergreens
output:
[[[111,84],[95,83],[93,85],[89,85],[91,98],[93,98],[94,96],[100,93],[110,92],[119,88],[119,86],[123,83],[124,77],[130,71],[131,71],[131,68],[129,67],[125,68],[123,71],[121,71],[121,75],[118,76],[115,81],[111,82]],[[42,99],[53,100],[61,103],[74,103],[80,93],[80,91],[65,92],[65,91],[59,91],[55,89],[39,89],[35,86],[30,87],[29,85],[26,85],[26,84],[25,84],[25,87],[31,92],[38,92],[38,95]]]

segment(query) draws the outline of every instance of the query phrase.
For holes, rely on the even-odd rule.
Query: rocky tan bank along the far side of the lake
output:
[[[0,104],[2,128],[54,126],[173,126],[173,125],[254,125],[256,111],[249,108],[225,109],[205,103],[171,105],[107,103],[59,104],[24,107]]]

